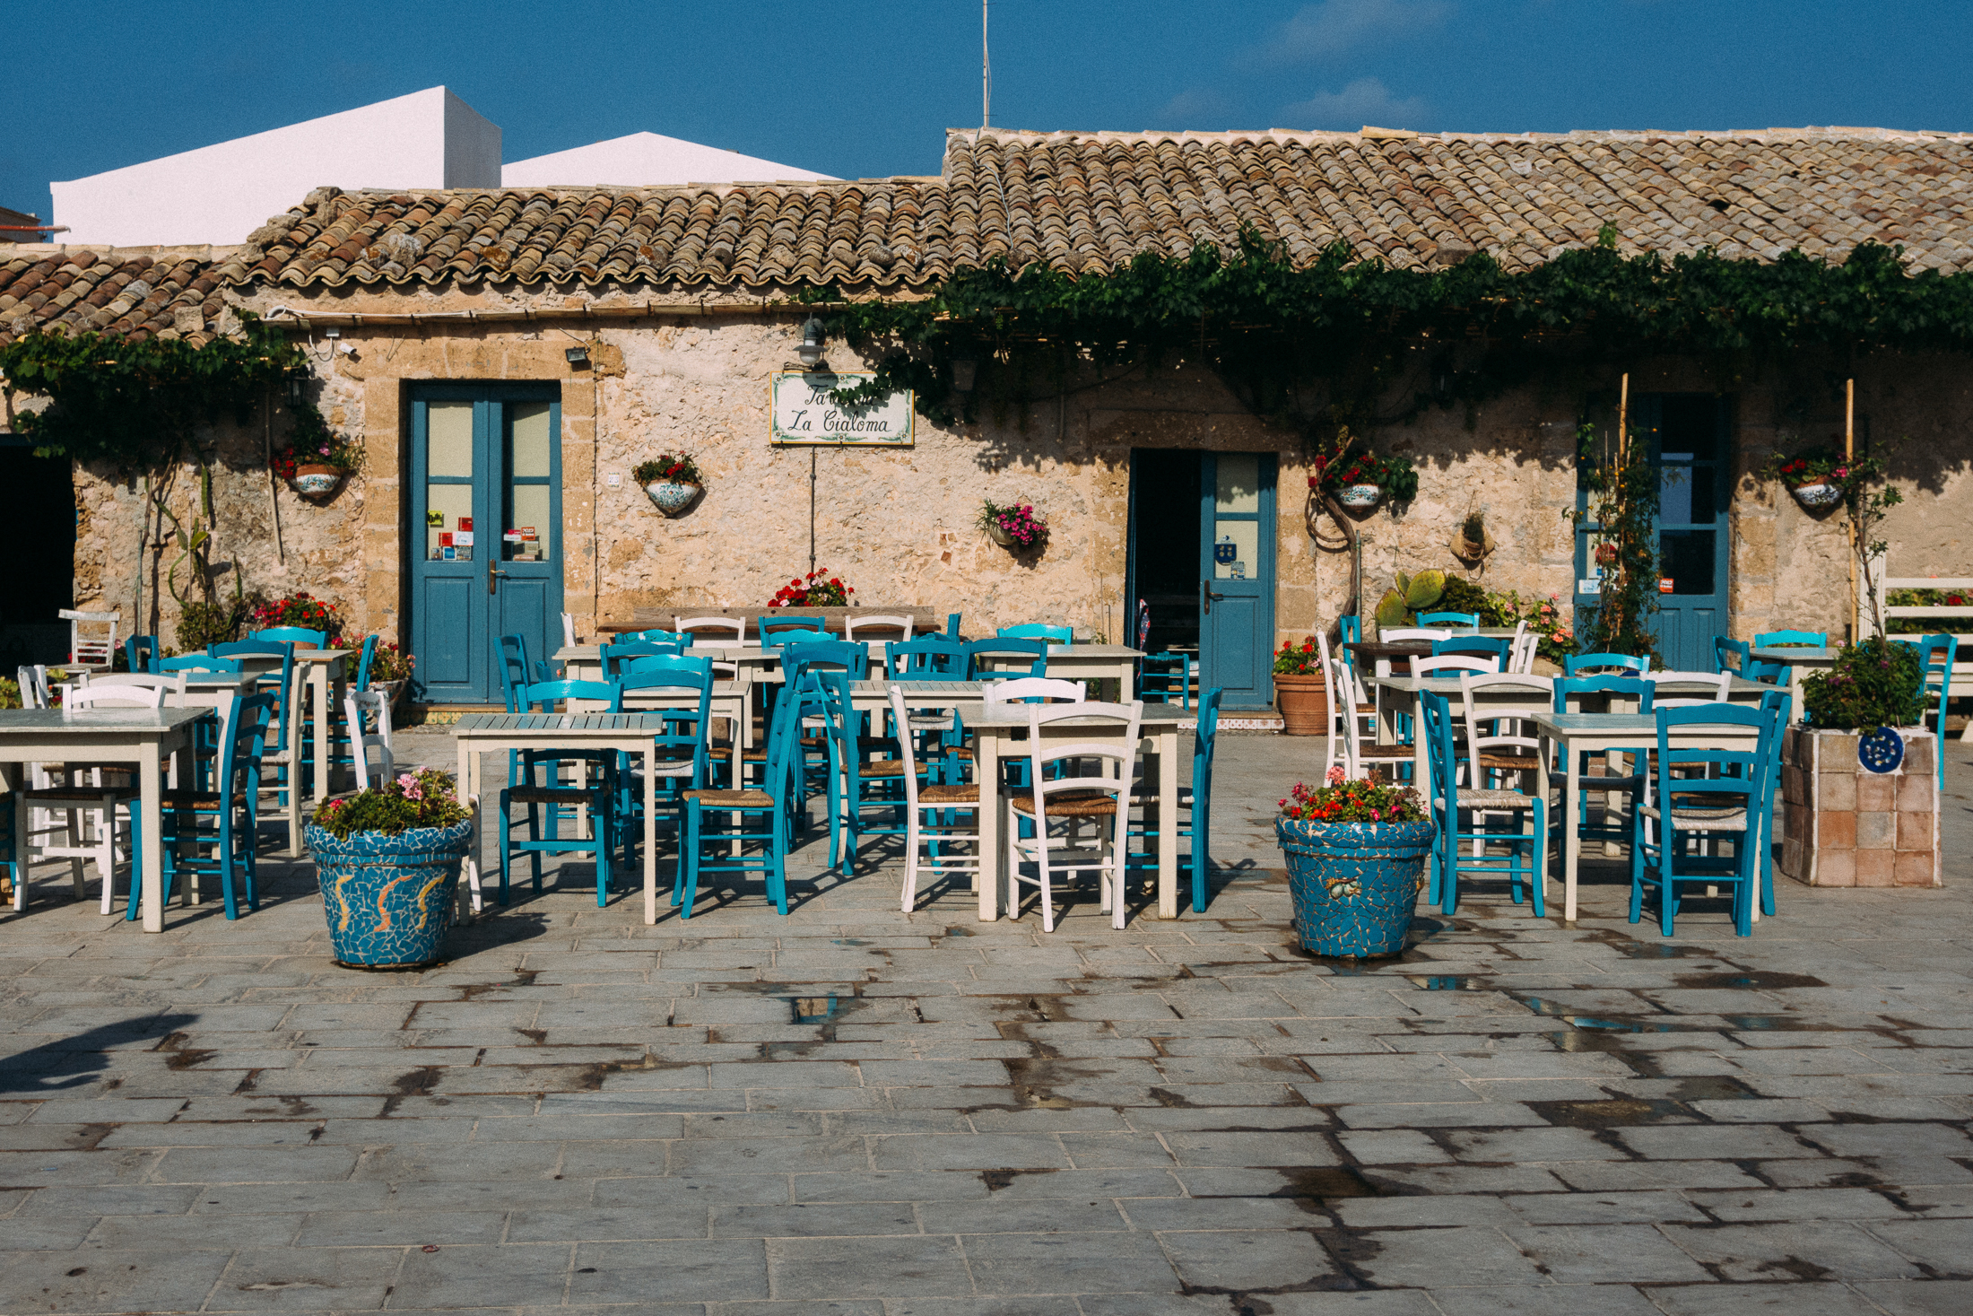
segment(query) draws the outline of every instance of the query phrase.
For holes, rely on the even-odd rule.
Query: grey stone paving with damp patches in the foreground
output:
[[[1943,892],[1673,941],[1614,886],[1480,896],[1350,967],[1265,831],[1304,756],[1229,738],[1211,908],[1125,931],[902,915],[811,850],[785,919],[645,927],[570,866],[365,975],[306,870],[158,937],[43,882],[0,919],[0,1310],[1973,1310],[1973,768]]]

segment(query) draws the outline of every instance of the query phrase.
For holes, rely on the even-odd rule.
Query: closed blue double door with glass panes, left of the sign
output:
[[[420,385],[410,412],[414,695],[501,700],[499,635],[560,647],[562,406],[552,385]]]

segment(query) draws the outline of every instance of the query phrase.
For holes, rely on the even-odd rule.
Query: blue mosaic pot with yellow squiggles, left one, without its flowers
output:
[[[304,833],[322,882],[335,961],[410,969],[438,959],[452,929],[454,890],[472,846],[472,821],[385,833]]]

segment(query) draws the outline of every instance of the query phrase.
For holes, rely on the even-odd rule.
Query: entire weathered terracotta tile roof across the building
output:
[[[1624,251],[1774,258],[1902,243],[1973,268],[1973,136],[1880,128],[1440,134],[955,130],[939,178],[685,187],[322,187],[207,262],[16,255],[20,308],[164,331],[229,284],[276,288],[846,284],[910,290],[1006,256],[1069,272],[1227,247],[1243,227],[1298,260],[1346,241],[1397,266],[1488,251],[1529,268],[1616,225]],[[16,249],[20,253],[20,249]],[[63,260],[55,264],[55,260]],[[134,280],[148,288],[130,294]],[[41,298],[36,302],[36,298]],[[53,308],[53,310],[49,310]],[[10,314],[14,312],[14,314]]]

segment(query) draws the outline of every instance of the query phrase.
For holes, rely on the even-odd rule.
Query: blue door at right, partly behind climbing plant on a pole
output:
[[[1645,393],[1632,404],[1632,442],[1657,470],[1657,655],[1671,671],[1711,671],[1713,637],[1728,633],[1726,507],[1732,404],[1715,393]],[[1578,491],[1576,507],[1586,505]],[[1576,527],[1576,631],[1598,602],[1598,527]]]

